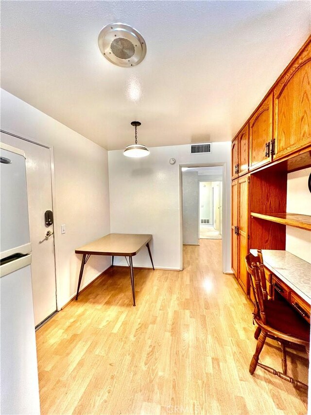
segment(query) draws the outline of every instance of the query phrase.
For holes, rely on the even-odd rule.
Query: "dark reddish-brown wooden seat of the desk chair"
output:
[[[288,303],[264,300],[267,325],[305,342],[310,341],[310,325]]]

